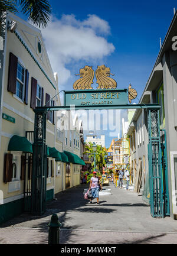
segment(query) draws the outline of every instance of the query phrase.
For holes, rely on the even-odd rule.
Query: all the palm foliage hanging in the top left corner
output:
[[[21,12],[28,16],[38,27],[46,27],[50,20],[51,6],[48,0],[0,0],[1,11],[10,11],[14,14],[18,12],[17,6]]]

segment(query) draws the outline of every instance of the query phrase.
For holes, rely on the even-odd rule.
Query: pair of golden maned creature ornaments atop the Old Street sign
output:
[[[110,68],[105,67],[104,65],[98,66],[95,72],[97,82],[99,86],[97,89],[115,89],[117,87],[117,83],[110,76]],[[112,74],[113,75],[113,74]],[[76,74],[76,76],[80,76],[81,78],[76,80],[73,84],[74,90],[89,90],[93,89],[91,84],[93,84],[94,78],[94,70],[92,67],[85,66],[83,69],[80,69],[80,73]]]

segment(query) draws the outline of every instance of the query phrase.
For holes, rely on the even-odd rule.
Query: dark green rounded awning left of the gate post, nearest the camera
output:
[[[32,153],[32,144],[25,137],[14,135],[9,141],[8,151],[22,151]]]

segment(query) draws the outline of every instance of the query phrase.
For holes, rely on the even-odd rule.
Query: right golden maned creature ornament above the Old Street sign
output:
[[[110,76],[110,68],[105,67],[105,65],[98,66],[95,72],[97,82],[99,86],[97,89],[116,89],[117,83],[116,81]],[[114,76],[114,74],[112,74]]]

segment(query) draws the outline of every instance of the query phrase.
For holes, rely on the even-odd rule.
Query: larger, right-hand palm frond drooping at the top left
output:
[[[21,11],[28,15],[28,20],[38,27],[46,27],[50,21],[51,5],[48,0],[19,0]]]

